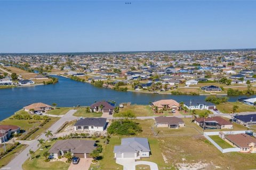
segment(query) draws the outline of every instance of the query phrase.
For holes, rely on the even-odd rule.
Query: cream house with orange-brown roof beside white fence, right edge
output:
[[[225,135],[225,139],[228,140],[234,147],[240,148],[240,152],[256,153],[256,138],[251,137],[248,134],[228,134]]]

